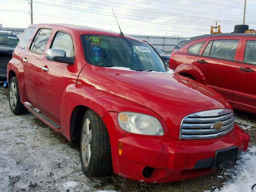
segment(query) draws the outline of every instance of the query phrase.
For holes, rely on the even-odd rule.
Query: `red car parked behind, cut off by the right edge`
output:
[[[234,108],[256,113],[256,34],[191,38],[172,53],[170,68],[216,90]]]

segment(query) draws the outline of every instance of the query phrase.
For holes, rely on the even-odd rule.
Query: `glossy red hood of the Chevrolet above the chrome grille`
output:
[[[217,92],[176,73],[138,72],[86,64],[79,80],[140,104],[175,126],[194,112],[231,108]]]

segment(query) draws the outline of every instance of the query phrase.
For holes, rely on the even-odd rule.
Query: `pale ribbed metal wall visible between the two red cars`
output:
[[[165,53],[172,52],[172,48],[176,46],[180,41],[189,39],[186,37],[170,37],[170,36],[152,36],[152,35],[130,35],[135,38],[144,40],[154,46],[157,46]]]

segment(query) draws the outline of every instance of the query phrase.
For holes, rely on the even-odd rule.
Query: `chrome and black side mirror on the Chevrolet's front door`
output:
[[[67,57],[66,51],[62,49],[48,49],[46,52],[46,59],[50,61],[66,63],[68,65],[74,64],[74,58]]]

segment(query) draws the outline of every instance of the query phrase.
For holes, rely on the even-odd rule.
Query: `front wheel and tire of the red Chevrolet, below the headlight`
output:
[[[80,136],[80,160],[86,176],[108,176],[112,159],[108,131],[93,110],[86,110]]]

